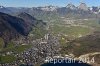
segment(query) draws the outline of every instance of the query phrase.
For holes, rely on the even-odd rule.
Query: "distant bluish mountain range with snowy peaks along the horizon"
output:
[[[75,6],[74,4],[70,3],[65,7],[52,5],[43,7],[1,7],[0,12],[7,13],[13,16],[25,12],[33,17],[36,17],[37,19],[40,18],[40,20],[44,21],[46,21],[45,16],[50,17],[51,15],[78,19],[97,18],[97,16],[100,18],[100,7],[88,7],[85,3],[80,3],[79,6]]]

